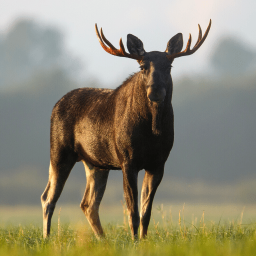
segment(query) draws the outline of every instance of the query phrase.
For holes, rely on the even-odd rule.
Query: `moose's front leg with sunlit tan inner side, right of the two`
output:
[[[154,172],[145,170],[140,198],[140,238],[147,235],[154,194],[161,182],[162,176],[163,166],[154,170]]]

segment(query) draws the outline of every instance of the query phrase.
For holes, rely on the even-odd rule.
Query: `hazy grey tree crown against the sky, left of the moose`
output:
[[[70,76],[79,66],[79,60],[67,53],[63,35],[56,28],[21,19],[0,34],[0,87],[19,86],[37,73],[51,74],[52,70]]]

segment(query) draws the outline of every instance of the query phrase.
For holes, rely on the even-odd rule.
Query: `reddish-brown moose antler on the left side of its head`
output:
[[[95,23],[95,30],[96,30],[96,34],[97,34],[97,37],[98,37],[98,41],[100,43],[100,45],[102,46],[102,48],[112,54],[112,55],[115,55],[115,56],[120,56],[120,57],[127,57],[127,58],[133,58],[133,59],[136,59],[136,60],[139,60],[141,61],[143,59],[143,56],[139,56],[139,55],[135,55],[135,54],[129,54],[125,51],[124,49],[124,46],[123,46],[123,43],[122,43],[122,38],[120,38],[120,41],[119,41],[119,45],[120,45],[120,49],[116,49],[107,39],[106,37],[104,36],[103,32],[102,32],[102,28],[100,28],[100,34],[98,32],[98,28],[97,28],[97,24]],[[104,42],[109,46],[107,47]]]

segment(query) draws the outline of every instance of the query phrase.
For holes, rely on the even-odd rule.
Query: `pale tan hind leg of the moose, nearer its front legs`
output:
[[[103,235],[98,208],[103,197],[109,170],[103,170],[83,162],[86,173],[86,188],[80,203],[92,230],[97,238]]]

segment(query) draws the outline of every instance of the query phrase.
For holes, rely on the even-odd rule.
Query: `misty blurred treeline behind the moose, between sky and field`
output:
[[[255,56],[246,42],[223,37],[208,57],[212,76],[173,79],[174,145],[154,204],[256,203]],[[57,28],[22,19],[0,34],[0,204],[40,205],[52,107],[70,89],[104,86],[97,77],[77,80],[80,66]],[[76,163],[59,201],[78,206],[85,184]],[[102,204],[119,203],[121,171],[110,171],[106,187]]]

